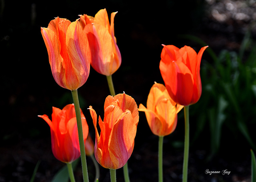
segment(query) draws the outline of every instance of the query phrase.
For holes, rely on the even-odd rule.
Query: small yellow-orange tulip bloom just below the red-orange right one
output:
[[[155,82],[148,94],[147,108],[140,104],[139,111],[145,112],[154,135],[166,136],[175,130],[177,114],[183,107],[170,98],[163,84]]]

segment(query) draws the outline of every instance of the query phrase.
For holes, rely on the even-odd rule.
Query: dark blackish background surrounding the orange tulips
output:
[[[249,19],[237,20],[230,16],[222,21],[221,17],[213,16],[214,10],[218,8],[224,10],[222,15],[232,14],[230,9],[225,9],[227,3],[239,1],[231,0],[0,2],[0,182],[29,181],[38,160],[41,162],[36,182],[50,182],[54,174],[64,166],[52,155],[47,123],[37,117],[42,114],[50,117],[52,106],[62,109],[66,104],[72,103],[70,91],[58,86],[53,79],[46,46],[40,33],[40,27],[47,27],[55,17],[67,18],[73,22],[78,14],[94,16],[98,10],[106,8],[110,17],[112,12],[118,11],[114,27],[122,64],[112,75],[114,87],[116,94],[125,92],[138,105],[142,103],[144,106],[154,81],[164,83],[159,70],[161,44],[172,44],[179,48],[189,45],[198,52],[203,45],[182,37],[184,34],[195,35],[218,55],[222,49],[238,51],[248,28],[252,28],[252,39],[255,39],[256,33],[253,26],[255,17],[252,16],[255,3],[248,5],[251,8],[246,12]],[[202,59],[212,63],[207,51]],[[204,87],[204,82],[202,86]],[[103,117],[104,100],[109,95],[106,76],[91,68],[88,80],[78,89],[78,94],[90,135],[94,139],[94,127],[87,108],[92,106]],[[190,143],[189,181],[250,181],[251,147],[242,136],[238,135],[238,139],[233,140],[233,135],[223,133],[219,152],[208,159],[211,152],[209,126],[206,125],[202,133],[195,133],[199,127],[195,123],[200,113],[193,112],[193,108],[200,108],[203,102],[200,100],[190,106],[191,141],[194,135],[199,136]],[[164,137],[166,182],[181,181],[183,141],[182,110],[176,130]],[[140,112],[134,152],[128,160],[132,182],[158,180],[157,152],[158,137],[151,133],[145,114]],[[90,159],[88,166],[90,179],[93,179],[94,167]],[[206,169],[228,169],[231,173],[210,176],[204,173]],[[118,181],[123,181],[121,169],[117,170],[117,178]],[[80,168],[76,170],[76,180],[82,181]],[[108,170],[102,167],[100,181],[110,181]]]

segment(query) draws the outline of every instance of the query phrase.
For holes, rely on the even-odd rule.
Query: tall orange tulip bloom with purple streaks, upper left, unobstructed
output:
[[[88,39],[78,20],[55,18],[47,28],[41,27],[54,80],[63,88],[76,90],[90,72]]]

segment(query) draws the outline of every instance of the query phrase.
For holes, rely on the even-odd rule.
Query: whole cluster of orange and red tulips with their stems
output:
[[[116,181],[115,170],[124,167],[125,181],[129,181],[127,161],[132,155],[134,138],[139,121],[139,112],[145,112],[148,125],[154,135],[159,136],[159,182],[162,174],[163,137],[172,133],[177,125],[177,114],[184,107],[185,148],[183,181],[187,181],[188,168],[188,106],[198,102],[201,92],[200,62],[206,49],[197,54],[184,46],[163,45],[160,72],[164,84],[152,86],[147,107],[139,108],[135,100],[123,94],[115,94],[112,74],[121,65],[121,54],[114,35],[114,17],[108,20],[106,9],[95,17],[80,15],[75,22],[55,18],[41,33],[48,51],[50,67],[55,81],[71,90],[74,104],[62,110],[52,108],[52,121],[47,115],[39,115],[50,126],[52,152],[56,159],[68,165],[70,180],[75,181],[71,163],[81,156],[84,182],[88,182],[86,154],[94,153],[95,159],[104,168],[110,169],[111,181]],[[87,80],[90,65],[100,74],[106,75],[111,96],[104,104],[104,119],[99,117],[100,134],[97,129],[97,115],[89,106],[95,128],[95,146],[88,135],[88,125],[80,110],[77,89]],[[96,176],[98,178],[98,176]]]

